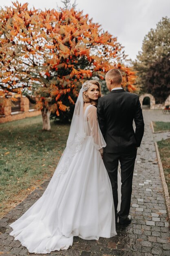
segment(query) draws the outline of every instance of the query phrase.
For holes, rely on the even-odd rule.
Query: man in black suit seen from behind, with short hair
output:
[[[99,127],[106,141],[104,165],[108,171],[113,190],[115,220],[119,227],[126,227],[132,218],[129,215],[132,193],[132,177],[137,155],[144,135],[144,119],[137,94],[121,88],[122,76],[117,69],[106,73],[106,85],[110,93],[99,98],[97,115]],[[136,130],[133,130],[133,120]],[[117,169],[121,164],[121,208],[117,213]]]

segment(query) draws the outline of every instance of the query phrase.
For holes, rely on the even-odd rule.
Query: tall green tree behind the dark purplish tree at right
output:
[[[158,22],[156,29],[151,29],[145,36],[142,44],[141,52],[137,55],[137,60],[133,62],[137,71],[137,83],[141,87],[141,92],[148,91],[148,76],[150,76],[150,68],[157,67],[157,63],[170,53],[170,19],[165,17]],[[149,73],[149,74],[148,74]],[[154,86],[149,83],[150,86]],[[162,84],[159,84],[160,88]],[[164,86],[164,85],[163,85]],[[158,95],[157,101],[159,101]],[[160,97],[160,101],[162,98]]]

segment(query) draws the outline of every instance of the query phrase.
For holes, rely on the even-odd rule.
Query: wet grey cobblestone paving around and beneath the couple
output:
[[[150,121],[168,121],[170,115],[158,110],[144,110],[145,135],[138,149],[132,191],[132,223],[125,229],[117,229],[117,236],[106,239],[82,240],[75,237],[68,250],[51,252],[61,256],[170,256],[170,229],[168,227],[166,204],[159,176],[154,137]],[[166,137],[170,134],[166,134]],[[155,139],[156,138],[156,139]],[[29,254],[19,241],[9,236],[9,224],[19,218],[44,192],[48,181],[31,193],[22,203],[0,219],[0,255],[40,255]],[[42,255],[42,254],[41,254]],[[46,254],[44,254],[46,255]]]

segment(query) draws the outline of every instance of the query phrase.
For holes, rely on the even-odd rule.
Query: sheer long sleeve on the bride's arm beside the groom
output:
[[[88,117],[88,124],[91,129],[91,136],[93,137],[95,148],[97,148],[97,150],[100,150],[101,148],[106,147],[106,142],[99,128],[99,124],[97,120],[97,108],[95,106],[91,106],[88,109],[87,117]]]

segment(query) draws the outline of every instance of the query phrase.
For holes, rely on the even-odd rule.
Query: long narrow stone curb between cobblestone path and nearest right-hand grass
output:
[[[169,225],[170,225],[170,195],[169,195],[168,186],[167,186],[166,180],[165,180],[165,175],[164,175],[164,171],[163,171],[163,166],[162,166],[161,157],[160,157],[160,154],[159,154],[159,149],[158,149],[157,142],[155,142],[155,148],[156,148],[156,152],[157,152],[159,171],[160,171],[160,175],[161,175],[163,193],[164,193],[166,208],[167,208],[167,212],[168,212],[168,221],[169,221]]]

